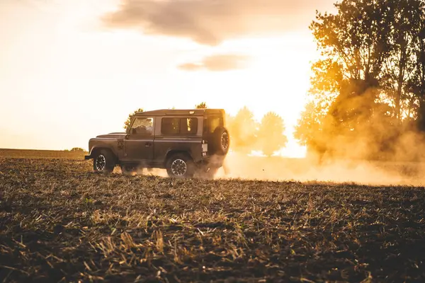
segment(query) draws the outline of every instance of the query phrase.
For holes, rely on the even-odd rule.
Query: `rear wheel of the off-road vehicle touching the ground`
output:
[[[193,178],[195,164],[188,154],[173,154],[166,162],[166,173],[170,178]]]

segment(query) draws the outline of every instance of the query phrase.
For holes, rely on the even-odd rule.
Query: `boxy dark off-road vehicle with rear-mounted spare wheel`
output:
[[[137,112],[126,132],[102,134],[89,140],[95,172],[123,173],[136,168],[164,168],[174,178],[199,173],[212,177],[229,151],[225,110],[188,109]]]

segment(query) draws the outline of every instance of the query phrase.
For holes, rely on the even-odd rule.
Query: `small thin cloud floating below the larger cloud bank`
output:
[[[236,54],[216,54],[205,57],[198,63],[186,63],[179,65],[179,69],[185,71],[198,71],[207,69],[208,71],[230,71],[243,69],[249,57]]]

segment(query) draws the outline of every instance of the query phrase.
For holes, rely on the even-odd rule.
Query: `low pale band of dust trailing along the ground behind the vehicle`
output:
[[[421,185],[422,163],[329,161],[309,158],[250,157],[229,154],[216,178],[249,180],[356,183],[361,185]],[[227,172],[225,172],[227,171]]]

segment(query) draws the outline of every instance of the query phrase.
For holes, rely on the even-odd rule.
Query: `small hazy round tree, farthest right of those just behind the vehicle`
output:
[[[282,117],[275,112],[267,112],[261,119],[258,131],[259,148],[266,156],[286,146],[288,138],[284,134],[285,125]]]

